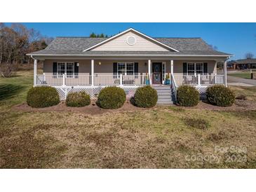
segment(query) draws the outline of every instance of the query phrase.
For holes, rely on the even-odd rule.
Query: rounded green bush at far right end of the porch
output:
[[[206,97],[210,104],[220,107],[229,107],[234,104],[236,95],[224,85],[213,85],[207,88]]]

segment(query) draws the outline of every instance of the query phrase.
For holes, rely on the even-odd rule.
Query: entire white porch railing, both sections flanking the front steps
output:
[[[177,86],[224,84],[224,75],[172,75]],[[144,86],[149,85],[148,75],[36,75],[36,85],[50,86]]]

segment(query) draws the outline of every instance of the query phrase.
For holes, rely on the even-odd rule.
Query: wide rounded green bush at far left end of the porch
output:
[[[27,104],[31,107],[50,107],[60,103],[60,97],[55,88],[48,86],[30,88],[27,92]]]

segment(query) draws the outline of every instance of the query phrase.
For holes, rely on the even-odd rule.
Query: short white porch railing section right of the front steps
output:
[[[177,86],[224,84],[224,75],[173,75]]]

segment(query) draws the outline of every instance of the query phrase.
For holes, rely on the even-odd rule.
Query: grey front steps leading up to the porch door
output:
[[[157,91],[159,99],[157,104],[173,104],[173,95],[170,86],[167,85],[152,85]]]

